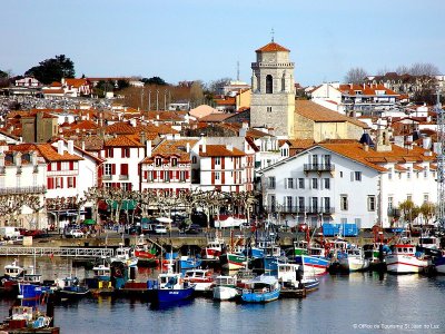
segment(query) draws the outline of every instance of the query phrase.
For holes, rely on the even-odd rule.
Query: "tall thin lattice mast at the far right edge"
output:
[[[437,89],[437,213],[436,219],[445,227],[445,111],[441,106],[441,92]]]

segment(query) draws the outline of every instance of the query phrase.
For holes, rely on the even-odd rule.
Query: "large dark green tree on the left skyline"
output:
[[[44,85],[60,81],[62,78],[73,78],[75,75],[75,63],[65,55],[40,61],[38,66],[24,72],[24,76],[32,76]]]

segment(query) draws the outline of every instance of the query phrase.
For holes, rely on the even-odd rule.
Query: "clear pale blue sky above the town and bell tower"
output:
[[[416,62],[445,73],[443,0],[3,0],[0,70],[66,55],[77,77],[250,84],[255,50],[290,50],[303,86]]]

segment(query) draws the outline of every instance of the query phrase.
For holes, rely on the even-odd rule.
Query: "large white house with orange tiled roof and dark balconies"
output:
[[[289,226],[389,227],[404,219],[395,214],[404,200],[436,202],[435,160],[421,147],[389,144],[384,131],[375,147],[326,140],[261,170],[263,205]]]

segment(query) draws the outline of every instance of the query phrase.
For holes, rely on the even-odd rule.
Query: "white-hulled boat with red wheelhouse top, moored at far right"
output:
[[[386,255],[385,261],[387,272],[394,274],[422,273],[429,264],[423,254],[416,254],[412,244],[394,245],[393,253]]]

